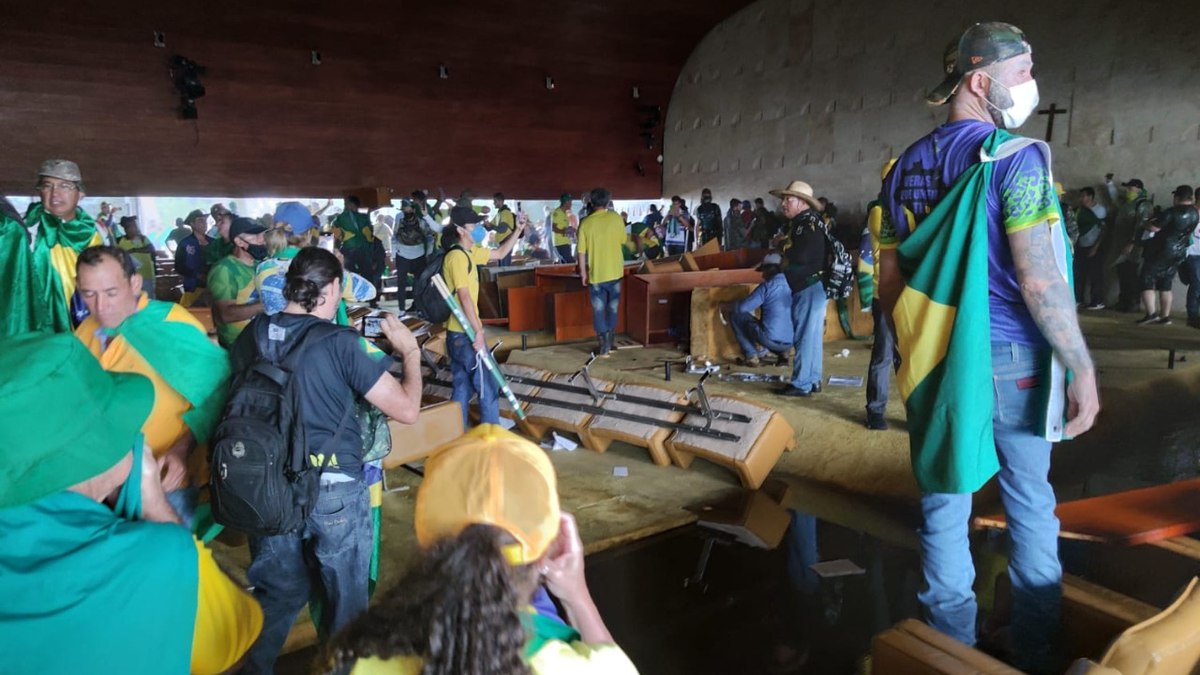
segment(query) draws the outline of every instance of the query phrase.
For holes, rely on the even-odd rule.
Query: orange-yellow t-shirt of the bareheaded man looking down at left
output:
[[[145,309],[149,301],[143,293],[138,300],[138,310]],[[168,321],[187,323],[194,325],[202,334],[206,333],[192,312],[180,305],[172,307],[167,317]],[[125,338],[120,335],[114,338],[108,344],[108,348],[101,351],[100,330],[100,322],[96,317],[89,316],[76,328],[74,334],[83,342],[84,347],[100,360],[101,368],[109,372],[136,372],[144,375],[154,383],[154,408],[150,410],[150,417],[142,425],[142,434],[145,436],[145,442],[150,446],[150,449],[154,450],[154,456],[161,458],[168,448],[187,434],[187,425],[184,424],[184,413],[192,410],[192,404],[187,402],[187,399],[179,392],[172,389],[167,384],[167,381],[156,370],[150,368],[146,359]]]

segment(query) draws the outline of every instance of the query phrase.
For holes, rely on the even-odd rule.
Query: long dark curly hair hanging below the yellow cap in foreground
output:
[[[512,538],[469,525],[425,551],[384,597],[338,633],[318,673],[347,671],[359,658],[416,656],[421,675],[529,675],[518,608],[533,592],[533,566],[512,567]]]

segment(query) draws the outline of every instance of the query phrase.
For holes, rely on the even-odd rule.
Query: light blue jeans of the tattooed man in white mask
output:
[[[1062,604],[1058,519],[1046,479],[1050,442],[1036,431],[1045,357],[1045,352],[1025,345],[991,346],[992,429],[1000,458],[1000,496],[1012,543],[1008,575],[1013,581],[1013,646],[1018,668],[1030,670],[1051,665]],[[934,628],[973,645],[977,607],[967,540],[971,495],[925,494],[920,508],[925,586],[918,597]]]

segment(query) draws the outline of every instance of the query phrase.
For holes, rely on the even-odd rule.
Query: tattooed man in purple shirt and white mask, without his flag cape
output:
[[[1016,129],[1036,109],[1032,71],[1032,48],[1009,24],[976,24],[947,49],[948,76],[930,102],[949,102],[949,119],[905,150],[883,181],[884,208],[894,226],[880,237],[880,298],[889,319],[905,285],[896,245],[920,226],[959,177],[980,161],[980,147],[996,127]],[[1048,482],[1050,442],[1038,429],[1037,399],[1049,387],[1052,351],[1074,371],[1067,389],[1070,419],[1063,436],[1079,436],[1092,426],[1099,411],[1096,370],[1079,330],[1074,295],[1052,255],[1051,227],[1061,227],[1061,216],[1043,150],[1030,144],[996,160],[985,198],[992,428],[1001,498],[1013,542],[1012,641],[1016,665],[1040,673],[1057,665],[1052,645],[1061,613],[1062,567],[1055,495]],[[973,645],[977,604],[967,539],[971,495],[925,492],[922,514],[925,585],[919,597],[928,620],[938,631]]]

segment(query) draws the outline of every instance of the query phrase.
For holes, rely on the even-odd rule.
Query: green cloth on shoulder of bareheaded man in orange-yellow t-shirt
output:
[[[229,382],[229,354],[190,323],[170,321],[174,303],[150,300],[114,333],[124,336],[150,368],[179,392],[192,410],[184,424],[198,444],[209,440],[224,408]]]

